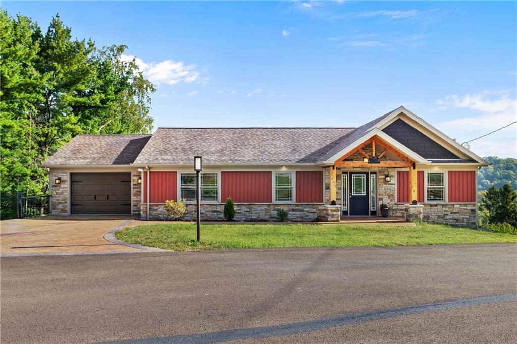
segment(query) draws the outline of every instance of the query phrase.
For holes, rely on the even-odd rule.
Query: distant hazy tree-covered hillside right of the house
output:
[[[478,190],[486,190],[495,185],[501,187],[510,184],[517,190],[517,159],[497,157],[483,158],[492,164],[489,167],[482,167],[478,172]]]

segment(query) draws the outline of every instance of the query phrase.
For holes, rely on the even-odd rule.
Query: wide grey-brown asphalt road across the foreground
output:
[[[515,244],[4,257],[0,263],[2,343],[517,338]]]

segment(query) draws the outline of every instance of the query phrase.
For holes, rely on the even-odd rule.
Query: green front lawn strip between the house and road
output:
[[[351,225],[202,225],[167,223],[126,228],[116,233],[126,242],[176,251],[188,249],[398,246],[517,242],[517,236],[444,225],[417,227]]]

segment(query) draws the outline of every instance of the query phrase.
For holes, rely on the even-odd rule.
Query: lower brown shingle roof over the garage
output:
[[[77,135],[42,166],[129,165],[151,135]]]

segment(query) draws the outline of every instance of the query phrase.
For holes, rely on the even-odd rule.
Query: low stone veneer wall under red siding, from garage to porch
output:
[[[202,204],[201,220],[202,221],[224,221],[223,215],[224,204]],[[313,222],[313,221],[330,221],[336,216],[336,212],[328,210],[328,206],[324,204],[297,203],[297,204],[235,204],[235,221],[276,221],[277,210],[284,209],[287,211],[287,221],[293,222]],[[333,209],[339,207],[334,206]],[[140,205],[141,218],[146,220],[147,204]],[[150,220],[170,220],[165,211],[164,204],[151,204],[149,210]],[[188,204],[187,211],[183,221],[196,220],[195,204]],[[328,220],[324,220],[327,219]],[[320,219],[320,220],[318,220]],[[338,220],[339,221],[339,220]]]

